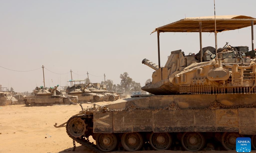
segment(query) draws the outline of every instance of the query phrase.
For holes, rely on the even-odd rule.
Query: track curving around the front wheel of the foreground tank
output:
[[[87,148],[89,148],[89,149],[92,149],[94,152],[97,152],[97,153],[105,153],[105,152],[103,152],[103,151],[100,151],[100,150],[97,148],[97,146],[96,146],[95,144],[93,144],[92,142],[89,141],[89,139],[85,139],[85,137],[83,137],[82,139],[80,139],[80,138],[75,138],[75,137],[73,137],[72,135],[70,135],[70,133],[68,132],[68,128],[67,128],[67,127],[68,127],[69,121],[72,120],[72,119],[74,119],[74,118],[88,118],[88,115],[72,116],[72,117],[68,120],[67,126],[66,126],[66,132],[67,132],[68,136],[69,136],[70,138],[72,138],[73,140],[75,140],[77,143],[79,143],[79,144],[81,144],[81,145],[83,145],[83,146],[85,146],[85,147],[87,147]],[[88,136],[88,138],[89,138],[89,136]]]

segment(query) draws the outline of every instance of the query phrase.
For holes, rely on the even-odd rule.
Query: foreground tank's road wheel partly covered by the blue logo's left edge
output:
[[[236,132],[224,132],[221,137],[221,144],[226,150],[236,150],[236,138],[243,137]]]

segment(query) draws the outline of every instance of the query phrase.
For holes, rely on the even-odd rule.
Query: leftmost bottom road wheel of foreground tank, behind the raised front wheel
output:
[[[117,138],[113,133],[101,133],[96,137],[98,149],[104,152],[113,151],[117,146]]]

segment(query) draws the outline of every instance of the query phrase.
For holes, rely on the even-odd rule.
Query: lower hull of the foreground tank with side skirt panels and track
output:
[[[153,147],[155,150],[161,150],[162,145],[167,149],[174,149],[185,143],[188,147],[182,150],[198,151],[209,142],[215,147],[222,144],[220,150],[229,150],[235,148],[226,139],[244,135],[251,137],[252,147],[256,147],[256,99],[253,97],[255,94],[156,95],[99,102],[99,107],[89,107],[72,116],[66,123],[66,128],[72,139],[97,152],[108,152],[109,148],[105,150],[104,145],[93,145],[86,137],[92,135],[96,144],[100,144],[100,137],[117,137],[117,140],[124,143],[119,146],[123,146],[126,151],[130,151],[129,144],[128,148],[125,144],[126,135],[135,137],[136,140],[142,137],[143,145],[138,150],[148,147],[145,142],[156,143],[156,148]],[[69,128],[73,127],[77,118],[81,118],[83,123],[80,125],[84,124],[85,128],[80,135],[77,135],[76,129]],[[164,135],[165,140],[170,138],[175,143],[157,144],[154,142],[156,135],[157,139]],[[116,139],[111,141],[115,142]],[[194,149],[195,144],[186,144],[187,139],[200,142],[196,144],[197,149]]]

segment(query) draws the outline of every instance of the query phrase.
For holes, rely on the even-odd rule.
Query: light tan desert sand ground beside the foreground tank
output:
[[[72,151],[72,139],[66,128],[55,128],[79,113],[79,105],[0,106],[0,153],[94,153],[76,143]],[[90,141],[93,141],[91,138]],[[191,153],[189,151],[135,151],[133,153]],[[198,153],[235,153],[236,151],[198,151]],[[256,152],[253,150],[252,152]]]

